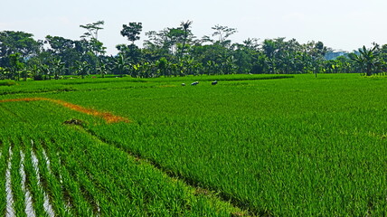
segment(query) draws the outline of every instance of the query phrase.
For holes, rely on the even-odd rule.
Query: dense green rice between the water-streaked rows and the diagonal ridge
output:
[[[63,165],[74,173],[73,177],[77,177],[80,185],[88,186],[85,190],[99,202],[102,215],[157,215],[166,212],[174,215],[192,212],[187,207],[194,207],[196,213],[205,213],[198,206],[211,210],[209,213],[230,215],[224,209],[224,204],[215,211],[208,199],[195,198],[188,193],[184,184],[170,183],[168,178],[151,167],[136,165],[134,159],[130,160],[119,149],[96,143],[79,132],[69,134],[66,131],[66,135],[55,140],[48,153],[54,152],[55,148],[61,149],[61,156],[65,158]]]

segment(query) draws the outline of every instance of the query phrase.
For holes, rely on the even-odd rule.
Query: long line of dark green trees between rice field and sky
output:
[[[235,28],[215,25],[211,35],[193,35],[193,22],[186,21],[161,31],[149,31],[142,48],[142,23],[122,25],[127,44],[118,44],[117,55],[107,55],[99,41],[103,21],[80,25],[79,40],[47,35],[34,40],[32,33],[0,32],[0,79],[51,80],[66,75],[90,74],[154,78],[213,74],[354,73],[366,75],[387,71],[387,44],[373,43],[334,60],[323,42],[299,43],[286,38],[247,39],[231,42]]]

